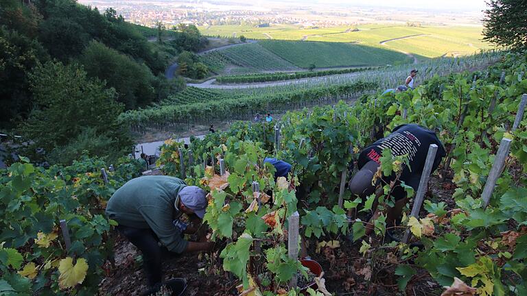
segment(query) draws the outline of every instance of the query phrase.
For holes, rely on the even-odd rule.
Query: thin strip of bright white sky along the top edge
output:
[[[284,2],[288,2],[285,0]],[[319,4],[339,3],[351,6],[380,6],[417,8],[432,10],[471,10],[481,11],[487,7],[485,0],[308,0],[308,2]]]

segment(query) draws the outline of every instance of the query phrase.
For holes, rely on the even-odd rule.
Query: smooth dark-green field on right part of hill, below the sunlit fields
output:
[[[301,68],[310,64],[316,67],[382,66],[412,62],[404,53],[344,42],[306,42],[262,40],[259,42],[272,53]]]

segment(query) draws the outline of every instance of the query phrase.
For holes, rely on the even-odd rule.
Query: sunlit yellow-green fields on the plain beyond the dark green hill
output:
[[[491,46],[482,42],[482,27],[423,26],[406,25],[358,25],[353,27],[329,27],[303,29],[296,25],[272,25],[250,27],[247,25],[224,25],[199,27],[200,32],[209,36],[246,36],[254,39],[304,40],[324,42],[356,42],[360,45],[383,47],[404,51],[425,58],[465,55]],[[421,36],[414,36],[421,35]],[[393,38],[380,45],[380,42]]]

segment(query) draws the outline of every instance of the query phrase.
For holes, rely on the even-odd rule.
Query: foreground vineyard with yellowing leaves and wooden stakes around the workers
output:
[[[186,270],[176,267],[190,277],[187,292],[526,295],[526,70],[526,56],[506,53],[480,71],[435,75],[415,90],[363,96],[353,106],[288,112],[277,125],[238,122],[192,139],[188,150],[167,140],[159,164],[209,191],[204,220],[216,242],[209,254],[185,256]],[[404,123],[434,130],[447,157],[423,208],[410,214],[410,199],[399,224],[387,226],[384,214],[368,222],[375,195],[353,197],[346,183],[358,152]],[[406,163],[387,152],[379,177]],[[287,179],[274,180],[268,156],[293,164]],[[45,170],[21,158],[1,171],[3,295],[95,295],[103,279],[102,295],[137,294],[144,279],[133,262],[141,260],[113,264],[124,242],[103,212],[139,168],[130,160],[109,167],[84,158]],[[378,207],[393,206],[395,184],[379,186]],[[408,243],[397,239],[404,233]],[[309,275],[298,260],[305,256],[324,274]]]

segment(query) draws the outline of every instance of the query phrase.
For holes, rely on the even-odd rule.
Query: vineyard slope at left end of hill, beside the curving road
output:
[[[235,66],[231,73],[298,70],[298,67],[256,43],[209,51],[204,53],[202,60],[216,73],[223,71],[229,64]]]

